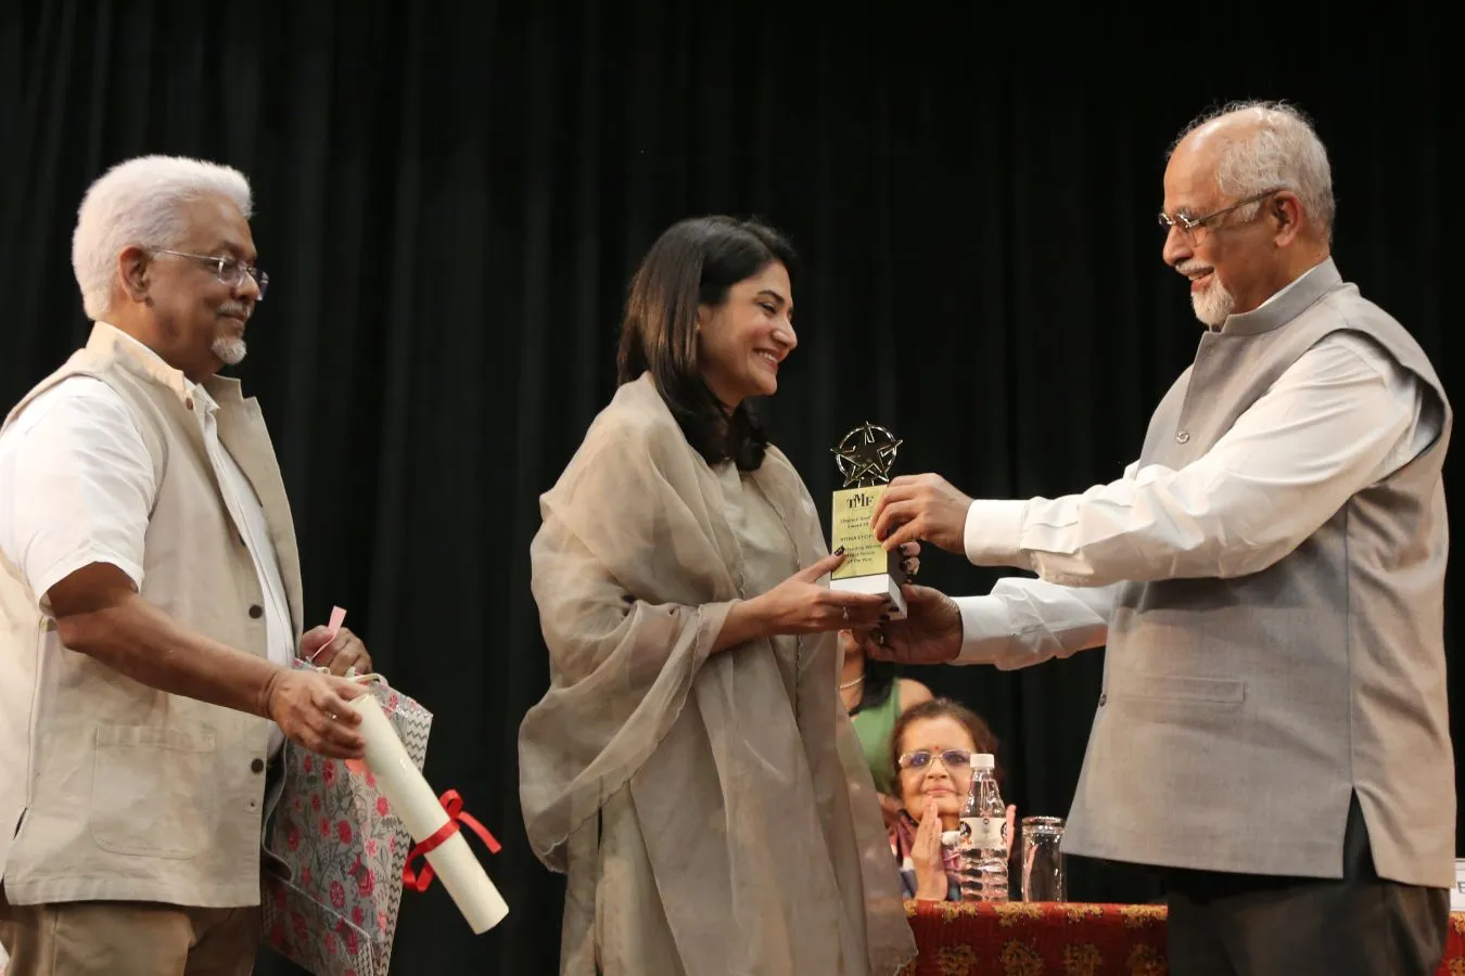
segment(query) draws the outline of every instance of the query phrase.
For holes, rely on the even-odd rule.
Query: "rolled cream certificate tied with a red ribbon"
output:
[[[377,789],[401,818],[412,840],[422,843],[447,825],[451,819],[448,812],[413,765],[375,695],[357,695],[350,705],[362,716],[366,767],[377,777]],[[475,935],[489,931],[508,915],[508,904],[488,879],[461,831],[454,831],[442,844],[429,850],[426,859]]]

